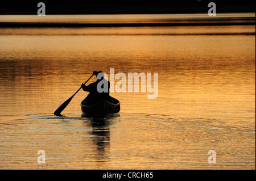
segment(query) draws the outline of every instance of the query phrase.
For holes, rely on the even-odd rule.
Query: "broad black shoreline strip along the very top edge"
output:
[[[36,15],[40,1],[3,1],[1,15]],[[182,1],[43,1],[46,14],[191,14],[207,13],[212,0]],[[217,13],[255,12],[255,1],[214,0]]]

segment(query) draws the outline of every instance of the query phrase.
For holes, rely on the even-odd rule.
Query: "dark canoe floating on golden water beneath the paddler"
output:
[[[97,103],[89,103],[87,100],[90,94],[80,103],[82,116],[86,117],[109,117],[117,116],[120,111],[119,100],[109,96],[108,99],[101,100]]]

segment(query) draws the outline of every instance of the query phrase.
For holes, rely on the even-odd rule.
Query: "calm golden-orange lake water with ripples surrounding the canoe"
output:
[[[255,169],[255,26],[1,28],[0,42],[0,169]],[[110,68],[158,73],[158,98],[111,93],[121,115],[99,121],[80,91],[53,115]]]

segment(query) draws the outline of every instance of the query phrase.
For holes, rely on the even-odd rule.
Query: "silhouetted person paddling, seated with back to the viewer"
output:
[[[84,83],[82,83],[81,85],[82,90],[86,92],[90,92],[88,102],[95,103],[95,102],[100,102],[103,99],[108,99],[110,82],[104,78],[104,73],[102,71],[93,71],[93,74],[96,75],[97,77],[96,82],[90,83],[90,85],[88,86],[85,86]],[[98,89],[97,89],[98,83],[100,83],[100,85],[98,86]],[[104,86],[107,86],[107,87],[104,87]]]

